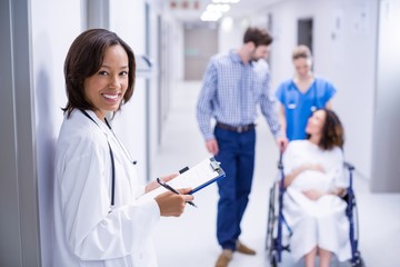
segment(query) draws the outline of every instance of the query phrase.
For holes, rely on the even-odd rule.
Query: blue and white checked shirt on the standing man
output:
[[[233,50],[213,56],[208,63],[197,103],[197,119],[204,139],[214,138],[211,118],[234,127],[253,123],[258,103],[272,135],[280,136],[269,80],[269,68],[264,60],[244,65]]]

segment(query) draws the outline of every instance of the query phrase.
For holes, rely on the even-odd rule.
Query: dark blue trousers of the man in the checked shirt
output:
[[[223,249],[236,250],[254,170],[256,129],[236,132],[216,127],[214,136],[219,146],[216,159],[227,174],[218,181],[217,238]]]

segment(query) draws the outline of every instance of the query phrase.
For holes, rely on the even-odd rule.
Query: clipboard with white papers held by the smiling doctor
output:
[[[184,169],[187,169],[184,172],[181,172],[178,177],[167,184],[174,189],[192,188],[190,194],[194,194],[226,176],[226,172],[220,167],[220,164],[213,157],[200,161],[194,167]],[[148,194],[144,194],[139,199],[154,198],[164,191],[167,191],[166,188],[159,187]]]

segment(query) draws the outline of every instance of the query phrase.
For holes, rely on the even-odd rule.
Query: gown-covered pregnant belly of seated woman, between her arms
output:
[[[297,190],[328,190],[330,180],[326,174],[317,170],[306,170],[296,177],[290,185],[291,188]]]

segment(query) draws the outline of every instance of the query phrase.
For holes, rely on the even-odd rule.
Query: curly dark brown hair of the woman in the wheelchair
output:
[[[326,121],[322,127],[319,147],[323,150],[331,150],[334,147],[342,149],[344,144],[344,130],[338,115],[330,109],[318,110],[323,110],[326,112]],[[307,135],[307,139],[309,138],[310,135]]]

